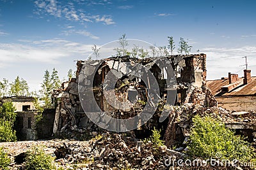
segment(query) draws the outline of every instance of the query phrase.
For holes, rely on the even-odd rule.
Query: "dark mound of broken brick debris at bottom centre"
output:
[[[157,148],[153,143],[124,141],[120,134],[111,134],[97,141],[93,146],[97,151],[90,168],[113,169],[165,169],[165,148]]]

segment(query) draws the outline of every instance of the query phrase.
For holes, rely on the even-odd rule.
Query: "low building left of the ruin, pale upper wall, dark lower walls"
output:
[[[52,136],[54,109],[45,109],[42,113],[38,113],[35,108],[35,98],[28,96],[11,96],[0,99],[0,104],[6,102],[12,102],[15,107],[17,115],[13,129],[16,131],[19,141],[46,139]],[[36,123],[38,114],[42,118]]]

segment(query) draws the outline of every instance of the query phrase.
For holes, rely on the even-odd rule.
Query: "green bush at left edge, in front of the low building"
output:
[[[3,103],[0,107],[0,142],[16,141],[13,123],[16,113],[12,102]]]

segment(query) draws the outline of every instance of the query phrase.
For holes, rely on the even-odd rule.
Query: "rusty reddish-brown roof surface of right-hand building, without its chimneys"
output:
[[[239,78],[238,81],[243,81],[243,78]],[[208,80],[206,81],[207,87],[211,89],[212,94],[215,96],[216,94],[221,92],[221,87],[228,85],[228,79],[225,80]],[[230,92],[226,92],[221,94],[221,96],[253,96],[256,95],[256,77],[252,77],[252,81],[246,85],[241,85],[239,87],[230,90]]]

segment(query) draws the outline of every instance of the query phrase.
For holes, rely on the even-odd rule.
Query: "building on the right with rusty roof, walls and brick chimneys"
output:
[[[208,80],[207,87],[218,101],[218,106],[232,111],[256,111],[256,77],[244,69],[244,76],[228,73],[228,78]]]

